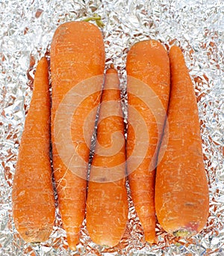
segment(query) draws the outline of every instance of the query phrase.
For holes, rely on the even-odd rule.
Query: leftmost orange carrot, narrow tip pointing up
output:
[[[19,145],[12,192],[16,230],[23,240],[30,243],[47,240],[55,222],[49,147],[49,73],[46,58],[41,58]]]

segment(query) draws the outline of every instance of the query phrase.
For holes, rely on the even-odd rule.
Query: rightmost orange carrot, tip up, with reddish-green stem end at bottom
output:
[[[169,136],[158,164],[155,209],[162,228],[178,237],[198,233],[208,218],[208,183],[202,155],[196,96],[178,46],[169,52]],[[168,133],[169,132],[169,133]]]

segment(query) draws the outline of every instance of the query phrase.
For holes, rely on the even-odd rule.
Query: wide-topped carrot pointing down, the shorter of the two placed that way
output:
[[[156,40],[135,43],[128,52],[126,70],[128,179],[145,240],[154,243],[155,161],[169,100],[167,51]],[[134,153],[135,147],[137,150]]]

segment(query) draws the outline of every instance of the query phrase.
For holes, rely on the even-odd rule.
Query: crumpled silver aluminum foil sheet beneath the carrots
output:
[[[210,215],[201,234],[178,239],[157,225],[158,244],[144,243],[129,196],[128,227],[113,249],[96,246],[85,228],[71,252],[57,218],[49,241],[24,243],[11,213],[19,141],[37,61],[49,51],[60,23],[97,13],[105,28],[107,64],[119,70],[125,106],[125,58],[130,46],[154,38],[184,51],[195,86],[210,189]],[[224,2],[223,0],[0,1],[0,255],[224,255]]]

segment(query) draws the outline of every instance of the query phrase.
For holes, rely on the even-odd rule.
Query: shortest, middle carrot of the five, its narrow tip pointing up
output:
[[[94,243],[116,246],[128,219],[125,188],[125,137],[119,78],[109,69],[99,112],[96,150],[90,168],[87,230]]]

